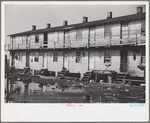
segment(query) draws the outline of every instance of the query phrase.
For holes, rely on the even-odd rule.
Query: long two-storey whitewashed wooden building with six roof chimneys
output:
[[[10,66],[34,70],[47,68],[56,75],[65,67],[71,73],[114,70],[144,76],[138,65],[145,64],[145,13],[36,29],[10,36]]]

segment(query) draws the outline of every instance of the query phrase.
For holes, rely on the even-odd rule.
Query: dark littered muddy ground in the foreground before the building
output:
[[[142,86],[59,80],[61,84],[65,81],[69,86],[62,91],[11,93],[10,100],[14,103],[145,103]]]

